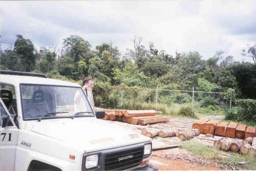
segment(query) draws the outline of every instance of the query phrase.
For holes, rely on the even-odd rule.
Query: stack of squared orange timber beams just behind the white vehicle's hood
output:
[[[168,117],[156,116],[156,114],[161,114],[162,112],[155,110],[115,110],[96,107],[94,109],[95,111],[105,111],[103,120],[127,122],[134,125],[147,125],[169,121]]]

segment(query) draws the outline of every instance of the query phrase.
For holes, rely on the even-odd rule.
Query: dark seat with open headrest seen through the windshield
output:
[[[44,91],[36,90],[32,94],[30,108],[37,108],[40,111],[40,115],[50,113],[50,108],[45,101]]]

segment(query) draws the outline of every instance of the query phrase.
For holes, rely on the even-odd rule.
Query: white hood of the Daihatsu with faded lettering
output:
[[[86,153],[151,140],[133,130],[94,117],[30,121],[25,129],[69,143]]]

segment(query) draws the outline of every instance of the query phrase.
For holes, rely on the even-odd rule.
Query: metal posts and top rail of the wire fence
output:
[[[116,88],[115,88],[116,89]],[[123,108],[123,103],[124,103],[124,92],[125,92],[125,88],[120,87],[117,89],[121,89],[121,108]],[[162,89],[162,88],[158,88],[158,86],[156,88],[139,88],[139,90],[152,90],[155,91],[155,109],[157,111],[158,109],[158,99],[159,99],[159,91],[169,91],[169,92],[192,92],[192,113],[194,112],[194,94],[195,93],[202,93],[202,94],[230,94],[230,100],[229,100],[229,112],[231,112],[231,104],[232,104],[232,92],[228,93],[228,92],[206,92],[206,91],[195,91],[194,87],[192,87],[192,90],[171,90],[171,89]]]

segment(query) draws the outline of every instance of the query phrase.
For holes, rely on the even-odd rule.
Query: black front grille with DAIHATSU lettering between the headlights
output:
[[[135,163],[140,164],[142,157],[143,148],[108,154],[105,159],[105,170],[115,170]]]

